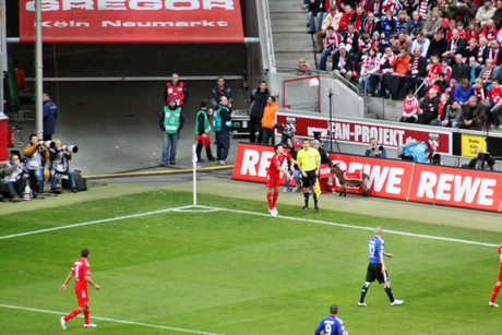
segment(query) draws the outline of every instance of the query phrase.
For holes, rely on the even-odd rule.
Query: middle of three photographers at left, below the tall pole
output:
[[[38,141],[36,134],[29,135],[29,144],[24,148],[27,158],[26,169],[29,177],[29,188],[37,193],[44,193],[44,167],[49,159],[49,148]]]

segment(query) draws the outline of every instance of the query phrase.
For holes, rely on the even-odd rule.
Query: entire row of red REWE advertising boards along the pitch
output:
[[[239,143],[231,178],[265,182],[266,168],[274,155],[272,146]],[[415,164],[393,159],[330,154],[333,163],[347,172],[363,171],[369,176],[371,196],[391,198],[445,206],[502,211],[502,174]],[[327,166],[321,166],[321,178],[330,178]],[[339,183],[334,189],[339,191]],[[347,189],[362,193],[361,189]]]

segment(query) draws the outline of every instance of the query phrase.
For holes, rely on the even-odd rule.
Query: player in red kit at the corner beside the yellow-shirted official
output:
[[[284,147],[280,144],[274,146],[275,155],[271,158],[271,165],[266,170],[266,200],[268,201],[268,213],[272,216],[277,216],[279,213],[275,207],[277,198],[279,198],[280,187],[280,172],[287,176],[287,171],[283,167],[285,159],[290,161],[290,168],[295,170],[295,159],[292,159],[289,153],[284,152]]]

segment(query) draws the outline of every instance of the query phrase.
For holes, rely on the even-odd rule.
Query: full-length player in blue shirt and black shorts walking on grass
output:
[[[366,283],[362,285],[361,298],[357,306],[366,306],[364,297],[370,288],[370,285],[374,280],[379,280],[379,284],[384,285],[385,292],[391,300],[391,306],[402,304],[404,301],[394,298],[394,294],[391,288],[391,279],[389,278],[387,271],[385,268],[384,258],[392,258],[392,253],[384,252],[384,241],[382,239],[383,229],[381,227],[374,228],[374,236],[370,238],[368,243],[368,255],[370,263],[368,264],[368,272],[366,273]]]

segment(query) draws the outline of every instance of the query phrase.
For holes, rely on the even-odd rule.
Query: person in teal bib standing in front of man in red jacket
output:
[[[164,107],[158,123],[164,132],[160,166],[164,167],[167,163],[176,165],[176,147],[184,124],[184,117],[183,110],[178,106],[175,97],[170,98],[167,106]]]

